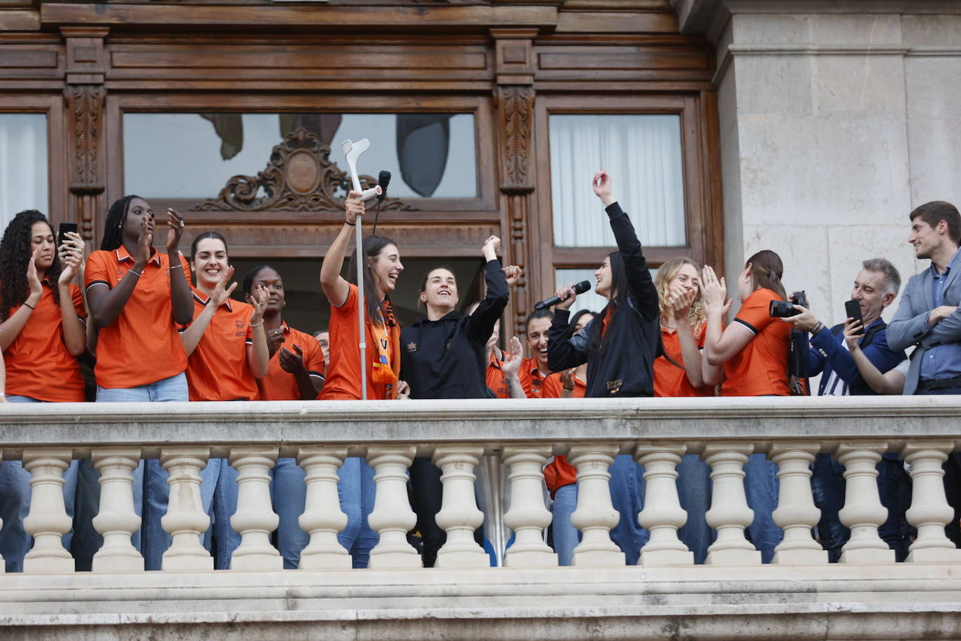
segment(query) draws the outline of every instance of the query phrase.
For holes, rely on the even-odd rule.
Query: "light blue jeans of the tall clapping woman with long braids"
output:
[[[129,389],[107,389],[97,385],[97,403],[164,403],[187,400],[189,392],[184,372]],[[89,510],[96,513],[100,504],[100,484],[97,481],[100,473],[89,461],[85,460],[84,463],[87,469],[85,471],[85,465],[81,466],[77,500],[78,503],[86,503]],[[134,547],[143,553],[147,570],[160,570],[160,561],[166,550],[166,543],[170,540],[169,535],[160,527],[160,518],[167,511],[169,496],[167,473],[160,467],[160,461],[141,460],[134,470],[134,510],[143,518],[142,527],[135,532],[132,542]],[[99,545],[97,547],[99,548]],[[86,552],[88,551],[85,551],[85,554]]]

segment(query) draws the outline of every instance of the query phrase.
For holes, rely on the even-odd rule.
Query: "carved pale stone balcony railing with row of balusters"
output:
[[[0,575],[0,635],[77,638],[118,626],[121,636],[189,637],[229,626],[254,636],[408,638],[430,619],[431,633],[450,638],[500,638],[499,626],[554,638],[952,638],[961,636],[961,551],[945,535],[941,464],[959,446],[952,397],[3,406],[0,454],[32,474],[24,525],[35,544],[23,573]],[[885,510],[875,462],[885,452],[899,453],[914,481],[907,518],[918,535],[901,563],[877,534]],[[572,568],[554,567],[544,543],[541,468],[552,453],[579,470],[574,522],[584,535]],[[633,567],[623,567],[609,537],[606,468],[619,453],[646,470],[645,509],[634,516],[651,538]],[[784,538],[771,564],[744,535],[752,510],[743,466],[758,453],[780,479],[774,519]],[[841,519],[851,536],[836,564],[811,535],[819,514],[808,466],[818,453],[846,466]],[[515,541],[506,567],[482,567],[473,539],[474,471],[485,454],[509,471],[505,523]],[[704,565],[678,540],[684,454],[712,469],[707,519],[719,534]],[[270,546],[277,517],[266,473],[278,456],[296,457],[307,472],[300,523],[310,540],[299,570],[281,570]],[[377,472],[369,523],[380,542],[367,570],[344,569],[336,539],[346,524],[335,478],[345,456],[366,456]],[[432,456],[443,472],[437,523],[448,538],[432,569],[419,568],[405,536],[414,456]],[[173,543],[160,572],[144,572],[131,545],[140,525],[131,472],[141,457],[160,458],[170,472],[162,526]],[[198,482],[209,457],[229,457],[238,473],[232,525],[241,543],[231,571],[209,569],[200,544],[209,518]],[[73,572],[61,543],[70,528],[62,473],[72,458],[90,458],[101,473],[94,526],[104,544],[90,573]]]

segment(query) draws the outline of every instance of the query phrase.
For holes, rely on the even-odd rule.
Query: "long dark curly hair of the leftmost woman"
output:
[[[0,240],[0,320],[7,320],[10,308],[23,305],[30,295],[30,286],[27,284],[27,263],[34,252],[31,249],[30,231],[35,223],[46,223],[50,221],[37,210],[24,210],[13,216],[13,220],[7,225],[7,231]],[[53,231],[53,226],[50,226]],[[60,279],[62,264],[57,251],[54,251],[54,262],[47,269],[46,277],[51,283],[57,283]],[[54,302],[60,305],[60,289],[51,287],[54,293]]]

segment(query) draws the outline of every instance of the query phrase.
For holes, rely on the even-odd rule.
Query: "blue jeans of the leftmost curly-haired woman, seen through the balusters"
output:
[[[27,396],[8,396],[11,403],[42,403]],[[74,498],[77,495],[77,470],[79,461],[70,461],[63,471],[63,504],[66,515],[74,515]],[[7,572],[22,572],[23,557],[30,552],[32,537],[23,529],[23,519],[30,513],[30,472],[23,469],[23,462],[8,460],[0,464],[0,555],[4,557]],[[70,550],[73,530],[63,534],[63,547]]]

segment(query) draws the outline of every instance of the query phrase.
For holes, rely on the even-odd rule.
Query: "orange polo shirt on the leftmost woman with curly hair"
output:
[[[83,403],[86,396],[80,365],[63,344],[63,317],[60,305],[54,301],[53,288],[57,284],[47,279],[41,284],[40,300],[30,312],[26,325],[3,353],[7,393],[48,403]],[[70,285],[70,298],[77,315],[84,318],[86,311],[80,287]],[[10,308],[7,317],[17,309],[19,306]]]

